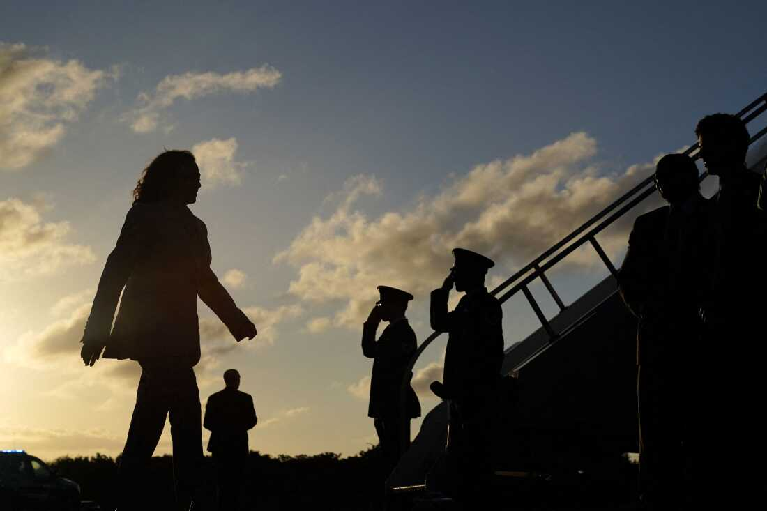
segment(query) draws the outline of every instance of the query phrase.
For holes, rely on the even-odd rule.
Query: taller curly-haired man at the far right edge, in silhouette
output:
[[[716,372],[702,381],[704,410],[713,413],[700,419],[705,467],[698,471],[699,493],[715,506],[732,506],[757,497],[765,475],[752,462],[764,457],[765,422],[755,402],[762,398],[764,371],[765,219],[756,205],[759,174],[746,168],[746,124],[734,115],[713,114],[700,120],[695,133],[706,169],[719,176],[702,343],[702,364]]]

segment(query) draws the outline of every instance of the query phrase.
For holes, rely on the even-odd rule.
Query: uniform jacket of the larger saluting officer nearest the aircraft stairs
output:
[[[431,326],[449,334],[443,386],[456,401],[479,401],[495,394],[503,362],[503,311],[486,288],[464,295],[447,312],[449,293],[431,293]]]

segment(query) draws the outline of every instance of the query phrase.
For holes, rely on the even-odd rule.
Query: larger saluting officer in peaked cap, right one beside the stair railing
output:
[[[431,294],[431,326],[448,332],[442,383],[431,389],[450,403],[447,464],[457,476],[455,497],[482,499],[492,475],[492,443],[503,361],[503,313],[485,287],[491,259],[466,249],[453,249],[450,274]],[[452,312],[450,290],[466,292]],[[479,509],[479,508],[477,508]]]

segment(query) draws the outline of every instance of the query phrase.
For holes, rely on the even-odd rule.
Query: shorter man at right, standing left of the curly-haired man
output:
[[[639,319],[640,493],[652,509],[679,509],[696,391],[690,379],[698,371],[693,353],[699,349],[699,310],[707,292],[711,207],[700,195],[690,157],[661,158],[655,183],[669,205],[637,217],[618,288]]]

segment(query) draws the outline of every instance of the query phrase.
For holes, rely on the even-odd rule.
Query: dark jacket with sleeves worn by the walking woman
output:
[[[189,208],[134,204],[104,266],[84,341],[106,341],[105,358],[196,364],[198,295],[230,330],[248,321],[210,269],[211,259],[205,223]]]

